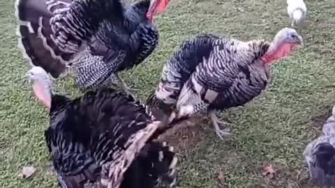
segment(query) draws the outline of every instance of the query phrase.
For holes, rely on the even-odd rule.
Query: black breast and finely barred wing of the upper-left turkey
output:
[[[149,3],[146,0],[135,6],[125,5],[122,19],[101,24],[83,54],[87,58],[81,56],[73,64],[80,88],[101,86],[114,73],[134,68],[154,52],[158,31],[145,17]]]

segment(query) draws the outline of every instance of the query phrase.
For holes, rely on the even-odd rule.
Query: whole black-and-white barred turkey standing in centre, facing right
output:
[[[267,86],[269,65],[302,45],[301,36],[289,28],[281,29],[271,43],[213,34],[196,36],[184,41],[169,58],[147,104],[162,109],[168,123],[208,115],[223,139],[230,133],[220,129],[219,123],[227,123],[218,121],[216,113],[253,100]]]

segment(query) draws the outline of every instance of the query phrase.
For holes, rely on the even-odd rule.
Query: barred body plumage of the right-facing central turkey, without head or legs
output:
[[[267,84],[269,72],[260,57],[268,48],[264,40],[241,42],[214,35],[186,40],[163,68],[148,104],[163,103],[172,109],[206,105],[204,112],[244,104]]]

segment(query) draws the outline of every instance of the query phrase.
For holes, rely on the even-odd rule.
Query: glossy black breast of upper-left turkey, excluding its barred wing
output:
[[[93,54],[105,57],[105,63],[108,62],[108,58],[113,61],[117,52],[124,54],[123,59],[112,65],[113,72],[127,70],[142,63],[158,45],[158,30],[146,17],[149,5],[149,0],[140,1],[135,5],[124,5],[124,17],[119,21],[103,22],[96,34],[99,44],[90,45],[95,51]]]

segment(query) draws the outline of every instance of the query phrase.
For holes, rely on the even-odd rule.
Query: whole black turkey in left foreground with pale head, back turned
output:
[[[174,185],[177,157],[172,147],[151,138],[160,122],[144,104],[112,88],[70,100],[53,94],[43,68],[31,68],[28,75],[50,111],[45,139],[61,188]]]

